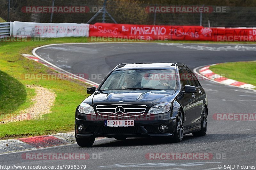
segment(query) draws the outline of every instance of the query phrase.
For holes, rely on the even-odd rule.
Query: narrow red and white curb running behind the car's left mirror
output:
[[[39,57],[39,56],[34,56],[34,55],[31,55],[31,54],[21,54],[21,55],[22,55],[23,57],[26,57],[26,58],[29,59],[29,60],[34,60],[34,61],[36,61],[36,62],[38,62],[38,63],[41,63],[41,64],[43,64],[44,66],[49,67],[49,68],[51,68],[52,70],[54,70],[54,71],[56,71],[56,72],[58,72],[58,73],[68,74],[69,77],[74,78],[74,79],[79,80],[79,81],[83,81],[83,82],[85,82],[85,83],[87,83],[87,84],[90,84],[90,85],[92,85],[92,86],[96,86],[96,87],[99,86],[98,83],[95,83],[95,82],[93,82],[93,81],[87,80],[87,79],[85,79],[85,78],[83,78],[83,77],[79,77],[78,75],[72,74],[72,73],[70,73],[70,72],[68,72],[68,71],[66,71],[66,70],[63,70],[62,68],[53,65],[52,63],[50,63],[50,62],[48,62],[48,61],[42,59],[42,58]]]

